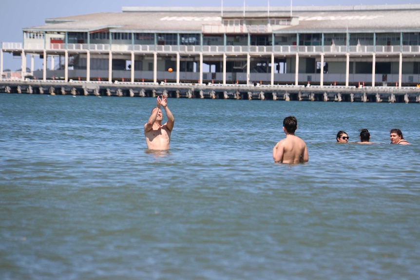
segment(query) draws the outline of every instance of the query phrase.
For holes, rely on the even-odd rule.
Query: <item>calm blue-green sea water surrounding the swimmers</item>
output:
[[[154,106],[0,93],[0,279],[419,279],[419,104],[171,98],[160,154]]]

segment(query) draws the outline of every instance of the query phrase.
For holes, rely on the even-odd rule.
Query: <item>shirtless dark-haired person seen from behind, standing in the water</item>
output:
[[[286,138],[280,140],[273,148],[274,162],[296,164],[309,160],[308,150],[304,140],[295,136],[298,121],[294,116],[288,116],[283,121],[283,131]]]

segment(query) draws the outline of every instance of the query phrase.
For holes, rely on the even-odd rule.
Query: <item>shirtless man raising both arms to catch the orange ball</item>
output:
[[[169,149],[171,141],[171,132],[173,129],[174,118],[172,112],[167,105],[167,97],[165,95],[157,96],[156,108],[153,108],[149,121],[144,125],[144,135],[146,136],[146,144],[148,149],[166,150]],[[163,109],[168,117],[168,122],[162,125]]]

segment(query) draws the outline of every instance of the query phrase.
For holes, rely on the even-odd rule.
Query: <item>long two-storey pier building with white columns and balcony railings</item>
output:
[[[0,77],[11,78],[2,57],[13,55],[22,79],[413,86],[419,14],[418,4],[123,7],[24,28],[23,42],[1,45]]]

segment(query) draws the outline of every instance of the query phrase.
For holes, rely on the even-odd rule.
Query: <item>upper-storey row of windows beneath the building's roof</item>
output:
[[[155,36],[156,42],[160,45],[177,45],[178,37],[179,44],[181,45],[200,45],[200,34],[175,34],[175,33],[111,33],[113,40],[124,40],[131,43],[132,36],[134,36],[135,44],[154,44]],[[372,33],[356,33],[356,34],[345,34],[345,33],[334,33],[324,34],[324,45],[346,45],[347,36],[350,39],[350,45],[362,44],[362,45],[373,45],[374,34]],[[401,40],[401,33],[378,33],[376,34],[377,45],[398,45]],[[44,33],[37,32],[25,32],[25,38],[28,39],[43,39]],[[69,43],[87,43],[88,33],[69,32],[68,42]],[[90,34],[91,43],[95,43],[95,40],[109,40],[110,33],[108,32],[97,32]],[[322,34],[299,34],[300,45],[321,45]],[[275,34],[274,42],[275,45],[291,45],[296,44],[296,34]],[[207,45],[223,45],[224,37],[220,36],[203,36],[203,44]],[[250,36],[251,45],[267,46],[271,45],[272,36]],[[227,37],[227,44],[248,44],[248,35],[235,35]],[[420,45],[419,33],[403,33],[402,34],[403,45]]]

